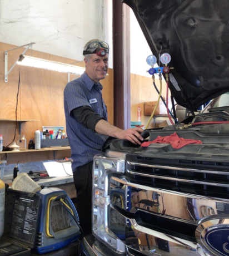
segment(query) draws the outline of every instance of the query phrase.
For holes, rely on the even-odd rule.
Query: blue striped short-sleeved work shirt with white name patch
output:
[[[86,72],[76,80],[68,82],[64,88],[64,112],[72,151],[72,171],[78,166],[89,163],[94,155],[101,153],[102,145],[108,138],[84,127],[71,113],[76,107],[89,106],[107,121],[107,108],[102,98],[102,88],[101,83],[94,83]]]

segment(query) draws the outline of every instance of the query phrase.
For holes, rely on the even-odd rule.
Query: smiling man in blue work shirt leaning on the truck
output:
[[[141,144],[141,128],[121,130],[107,122],[102,85],[108,70],[109,46],[91,40],[84,46],[85,72],[64,88],[66,130],[73,159],[72,171],[77,190],[77,212],[84,235],[91,233],[92,164],[108,136]]]

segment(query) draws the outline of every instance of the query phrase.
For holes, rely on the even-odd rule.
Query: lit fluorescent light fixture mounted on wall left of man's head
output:
[[[26,55],[20,55],[17,61],[19,65],[44,68],[45,70],[53,70],[64,73],[72,73],[76,75],[82,75],[85,71],[84,67],[78,67],[70,64],[65,64],[57,61],[43,60],[42,58],[35,58]]]

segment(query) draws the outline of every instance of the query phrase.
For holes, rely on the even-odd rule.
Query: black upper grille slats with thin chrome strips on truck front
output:
[[[139,184],[172,191],[228,198],[229,164],[127,155],[126,175]]]

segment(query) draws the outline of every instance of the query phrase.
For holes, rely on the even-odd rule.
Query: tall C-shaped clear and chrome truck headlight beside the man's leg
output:
[[[125,253],[125,244],[109,228],[110,180],[113,173],[124,173],[125,154],[107,151],[94,156],[93,160],[93,217],[92,233],[94,237],[118,253]]]

